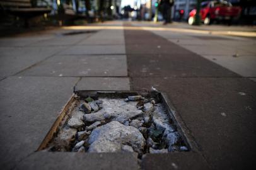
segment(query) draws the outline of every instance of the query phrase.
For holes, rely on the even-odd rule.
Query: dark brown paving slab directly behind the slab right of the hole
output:
[[[128,64],[131,77],[240,77],[191,52],[188,55],[132,54],[128,57]]]

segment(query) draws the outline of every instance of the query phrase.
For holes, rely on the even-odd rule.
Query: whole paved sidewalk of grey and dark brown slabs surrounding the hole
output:
[[[256,27],[106,21],[0,38],[3,169],[255,166]],[[188,152],[35,152],[77,89],[167,94]],[[57,162],[57,163],[56,163]]]

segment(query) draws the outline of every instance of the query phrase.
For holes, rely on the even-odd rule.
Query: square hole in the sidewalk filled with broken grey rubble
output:
[[[38,150],[50,152],[189,151],[166,95],[159,91],[75,91]]]

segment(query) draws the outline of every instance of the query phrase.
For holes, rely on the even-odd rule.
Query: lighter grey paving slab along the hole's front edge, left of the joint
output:
[[[17,164],[15,169],[138,170],[139,165],[132,153],[36,152]]]

